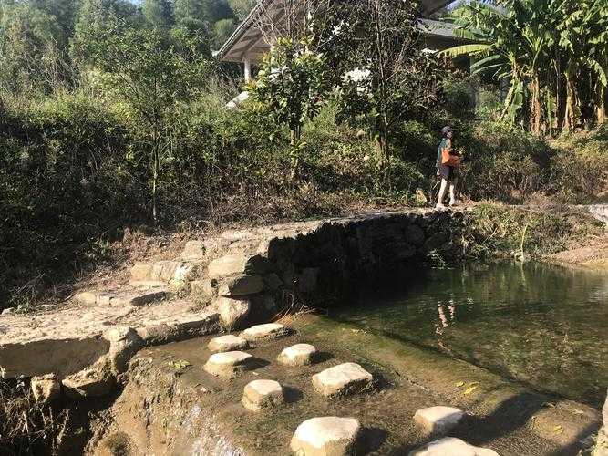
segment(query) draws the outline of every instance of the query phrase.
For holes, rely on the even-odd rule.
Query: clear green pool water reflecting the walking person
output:
[[[404,272],[330,316],[599,407],[608,275],[532,263],[479,269]]]

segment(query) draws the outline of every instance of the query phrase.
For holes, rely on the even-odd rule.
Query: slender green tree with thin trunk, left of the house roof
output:
[[[180,102],[196,97],[205,87],[210,64],[195,52],[195,44],[183,43],[179,49],[159,28],[115,24],[96,38],[91,58],[103,72],[106,88],[117,93],[137,119],[141,149],[147,152],[151,212],[156,221],[162,163],[172,146],[167,119]]]

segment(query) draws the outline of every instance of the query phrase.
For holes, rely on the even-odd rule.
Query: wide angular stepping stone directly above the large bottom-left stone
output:
[[[317,393],[331,397],[361,391],[373,379],[372,374],[358,364],[345,363],[314,375],[313,387]]]

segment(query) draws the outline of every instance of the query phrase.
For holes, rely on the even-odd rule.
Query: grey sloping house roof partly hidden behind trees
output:
[[[423,0],[423,16],[431,15],[438,9],[449,5],[453,0]],[[256,21],[262,16],[269,16],[275,21],[283,18],[283,3],[280,0],[260,0],[255,5],[249,16],[234,30],[232,36],[223,44],[222,48],[214,55],[223,61],[242,62],[246,54],[258,56],[268,52],[270,45],[266,43],[263,36],[255,27]],[[438,36],[456,39],[453,33],[454,26],[448,23],[421,19],[422,33],[427,36]]]

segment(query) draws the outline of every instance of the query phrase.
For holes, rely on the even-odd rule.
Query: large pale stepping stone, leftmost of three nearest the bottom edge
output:
[[[295,430],[291,448],[298,456],[345,456],[356,451],[360,432],[353,418],[313,418]]]

